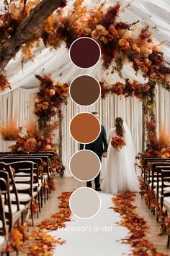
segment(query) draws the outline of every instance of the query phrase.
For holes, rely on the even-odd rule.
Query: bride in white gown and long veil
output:
[[[113,137],[123,137],[125,145],[113,148]],[[117,195],[119,192],[138,192],[139,182],[135,174],[135,153],[130,129],[121,117],[115,119],[115,127],[109,131],[107,167],[101,188],[102,192]]]

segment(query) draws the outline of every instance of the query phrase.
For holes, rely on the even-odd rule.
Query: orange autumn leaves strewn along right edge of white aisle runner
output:
[[[132,255],[138,256],[168,256],[162,253],[158,253],[154,245],[148,241],[148,225],[143,218],[138,216],[135,210],[135,206],[132,204],[135,198],[135,193],[126,192],[124,194],[118,194],[112,198],[115,206],[110,209],[120,213],[122,220],[121,226],[125,226],[129,229],[130,234],[126,239],[122,239],[122,242],[130,244],[133,247]]]

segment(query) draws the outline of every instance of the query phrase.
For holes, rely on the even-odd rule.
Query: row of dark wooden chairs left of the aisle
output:
[[[48,193],[45,195],[42,185],[51,178],[51,160],[53,153],[0,153],[1,253],[6,247],[6,241],[14,224],[19,219],[24,223],[24,210],[27,209],[28,213],[31,213],[33,226],[34,200],[37,199],[39,202],[39,211],[42,208],[43,197],[44,201],[45,198],[48,200]],[[9,255],[9,252],[6,254]]]

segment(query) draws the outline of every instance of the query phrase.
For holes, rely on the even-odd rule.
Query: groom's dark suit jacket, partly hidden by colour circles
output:
[[[101,125],[101,132],[97,140],[85,145],[85,149],[91,150],[96,153],[99,158],[102,158],[102,153],[107,152],[107,136],[106,130],[103,125]],[[84,149],[84,144],[80,144],[80,150]]]

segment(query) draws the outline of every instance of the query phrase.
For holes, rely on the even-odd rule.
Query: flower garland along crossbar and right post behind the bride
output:
[[[125,97],[135,96],[143,103],[143,114],[146,124],[146,152],[151,155],[156,150],[156,117],[155,117],[155,89],[156,82],[149,80],[146,84],[140,84],[136,80],[126,79],[125,83],[116,82],[114,85],[107,85],[100,82],[101,95],[105,98],[108,94],[123,95]]]

